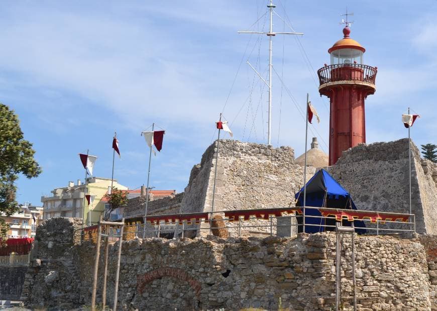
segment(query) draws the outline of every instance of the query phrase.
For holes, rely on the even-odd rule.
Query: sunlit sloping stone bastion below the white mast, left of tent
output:
[[[303,186],[303,167],[294,163],[292,148],[220,140],[219,149],[215,211],[294,205],[294,193]],[[211,211],[216,152],[214,142],[192,169],[183,213]],[[314,174],[310,170],[308,178]]]

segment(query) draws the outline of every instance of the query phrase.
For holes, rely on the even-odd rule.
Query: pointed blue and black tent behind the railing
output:
[[[296,206],[303,206],[303,187],[295,194]],[[312,178],[306,183],[306,206],[357,210],[351,195],[345,188],[343,188],[328,172],[320,169]],[[303,212],[303,211],[302,211]],[[320,216],[319,211],[315,209],[305,209],[305,216]],[[302,224],[302,218],[298,218],[298,223]],[[342,221],[343,226],[351,226],[352,222],[347,220]],[[335,226],[335,219],[322,218],[305,218],[305,233],[316,233],[322,231],[334,231],[333,227],[321,227],[323,225]],[[355,227],[365,228],[363,221],[354,221]],[[298,232],[303,232],[302,226],[299,226]],[[365,229],[356,229],[357,233],[365,233]]]

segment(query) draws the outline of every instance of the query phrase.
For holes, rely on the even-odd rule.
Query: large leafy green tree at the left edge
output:
[[[18,210],[15,201],[18,174],[32,178],[41,173],[34,154],[32,144],[23,137],[17,115],[0,103],[0,214],[10,216]],[[2,240],[5,240],[8,230],[9,225],[0,218]]]

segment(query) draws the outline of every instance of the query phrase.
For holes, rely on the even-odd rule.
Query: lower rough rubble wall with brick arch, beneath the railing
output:
[[[90,304],[95,245],[74,244],[79,226],[78,220],[52,218],[38,228],[38,250],[22,296],[28,306],[71,309]],[[358,309],[437,308],[436,245],[435,236],[357,236]],[[117,248],[111,245],[109,252],[108,302],[114,294]],[[134,239],[123,242],[121,258],[122,309],[331,310],[335,305],[333,233],[295,239]],[[352,309],[351,269],[351,238],[345,235],[344,310]],[[100,270],[98,303],[102,274]]]

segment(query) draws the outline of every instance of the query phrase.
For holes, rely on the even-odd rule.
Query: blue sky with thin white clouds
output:
[[[114,131],[122,153],[115,177],[137,188],[146,183],[149,154],[140,133],[153,122],[165,129],[163,150],[152,159],[151,185],[178,192],[216,137],[220,112],[235,139],[265,142],[267,92],[245,62],[265,75],[267,37],[237,31],[262,17],[266,3],[2,2],[0,101],[19,115],[43,168],[38,178],[19,179],[18,200],[39,204],[54,187],[83,179],[77,154],[88,148],[98,156],[95,175],[110,178]],[[309,92],[321,118],[312,130],[327,152],[329,101],[318,95],[312,69],[329,63],[327,49],[342,38],[346,6],[355,13],[351,37],[366,48],[364,63],[378,67],[377,91],[366,101],[367,142],[407,136],[400,118],[410,106],[422,117],[412,128],[414,142],[437,143],[437,1],[274,3],[305,33],[299,38],[304,52],[293,36],[274,38],[275,147],[303,153],[299,110]],[[261,18],[252,29],[263,25]],[[277,18],[274,30],[289,31]]]

